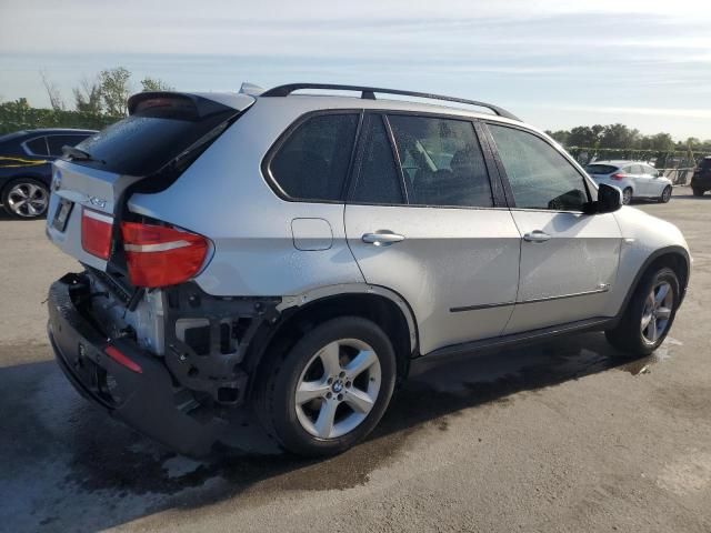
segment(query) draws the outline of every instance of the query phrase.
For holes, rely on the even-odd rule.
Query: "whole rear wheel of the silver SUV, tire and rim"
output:
[[[329,320],[272,361],[258,392],[260,419],[293,453],[343,452],[382,418],[395,369],[392,344],[373,322],[358,316]]]

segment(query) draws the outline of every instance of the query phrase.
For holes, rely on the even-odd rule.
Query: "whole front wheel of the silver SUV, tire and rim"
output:
[[[605,331],[610,343],[637,355],[649,355],[664,341],[679,306],[679,278],[664,266],[640,281],[619,325]]]

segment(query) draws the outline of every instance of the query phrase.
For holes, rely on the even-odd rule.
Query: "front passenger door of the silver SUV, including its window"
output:
[[[522,235],[517,303],[505,333],[601,316],[620,254],[614,215],[584,214],[591,191],[582,173],[542,137],[493,123],[489,131]]]

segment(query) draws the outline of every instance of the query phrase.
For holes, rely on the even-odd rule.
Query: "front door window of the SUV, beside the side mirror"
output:
[[[583,178],[563,155],[525,131],[489,125],[518,208],[582,210]]]

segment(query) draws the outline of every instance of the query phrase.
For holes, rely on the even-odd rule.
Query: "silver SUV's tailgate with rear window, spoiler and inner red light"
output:
[[[114,245],[112,228],[124,214],[128,188],[158,192],[170,187],[253,102],[246,94],[134,94],[129,117],[54,163],[48,238],[80,262],[106,271]]]

